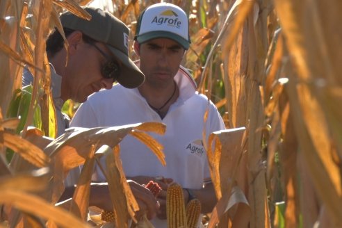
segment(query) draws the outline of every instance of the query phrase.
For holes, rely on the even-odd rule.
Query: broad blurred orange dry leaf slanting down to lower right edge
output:
[[[306,86],[291,85],[291,88],[294,89],[288,91],[288,97],[291,102],[291,113],[301,152],[306,157],[307,168],[312,175],[318,195],[327,204],[329,213],[337,222],[342,216],[342,209],[339,206],[342,204],[341,197],[339,197],[341,195],[341,176],[332,156],[327,156],[329,154],[327,152],[331,151],[331,141],[327,138],[329,134],[323,121],[322,110],[311,99]],[[311,115],[313,112],[315,116]]]

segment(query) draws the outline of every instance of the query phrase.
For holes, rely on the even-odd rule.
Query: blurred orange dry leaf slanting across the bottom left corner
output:
[[[19,190],[0,190],[0,203],[13,205],[20,211],[52,220],[63,227],[90,227],[86,222],[74,218],[69,212],[58,209],[38,196],[29,195]]]

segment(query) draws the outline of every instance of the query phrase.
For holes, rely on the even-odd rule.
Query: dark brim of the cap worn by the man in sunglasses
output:
[[[126,88],[136,88],[140,86],[145,81],[145,75],[142,74],[139,67],[137,67],[126,54],[123,54],[110,45],[107,45],[107,47],[122,63],[121,74],[117,78],[117,82]]]

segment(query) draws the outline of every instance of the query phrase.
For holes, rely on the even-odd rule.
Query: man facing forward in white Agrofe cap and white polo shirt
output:
[[[184,10],[171,3],[156,3],[145,9],[138,19],[134,42],[140,56],[136,63],[145,74],[145,82],[133,89],[115,85],[90,96],[71,122],[74,127],[166,124],[165,135],[153,135],[164,147],[166,166],[136,139],[128,136],[120,143],[127,177],[139,184],[156,181],[163,188],[158,197],[158,218],[152,220],[158,228],[167,227],[165,193],[172,181],[184,188],[185,203],[193,197],[199,199],[203,213],[211,212],[216,202],[202,133],[205,131],[207,140],[211,132],[225,129],[225,125],[215,105],[197,94],[195,81],[180,65],[190,45],[188,26]],[[97,178],[104,179],[101,172]]]

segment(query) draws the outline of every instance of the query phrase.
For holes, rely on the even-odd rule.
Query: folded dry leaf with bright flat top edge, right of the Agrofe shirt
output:
[[[218,199],[224,198],[224,200],[217,204],[213,213],[211,215],[211,220],[209,226],[215,226],[219,221],[218,227],[227,226],[228,220],[233,222],[233,226],[237,227],[247,227],[250,220],[250,207],[248,206],[247,199],[243,192],[247,193],[247,184],[245,183],[247,177],[247,165],[246,158],[243,158],[243,147],[245,146],[245,127],[237,129],[227,129],[224,131],[217,131],[212,133],[213,136],[218,138],[218,143],[221,147],[220,150],[215,152],[215,159],[209,158],[209,163],[211,167],[215,167],[215,174],[212,175],[212,181],[215,188],[216,195]],[[213,172],[214,170],[211,170]],[[216,177],[213,177],[216,176]],[[230,195],[233,186],[238,185],[239,193],[238,197],[233,195],[231,197],[225,197],[225,195]],[[216,190],[219,188],[218,190]],[[240,203],[243,202],[244,205]],[[224,206],[225,205],[225,206]],[[231,211],[227,213],[229,209]],[[228,218],[228,215],[230,218]]]

